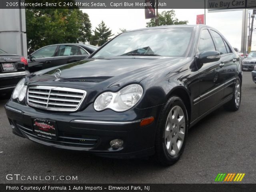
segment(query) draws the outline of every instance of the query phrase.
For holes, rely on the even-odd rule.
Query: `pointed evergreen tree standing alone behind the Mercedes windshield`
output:
[[[102,46],[113,35],[112,30],[110,30],[102,21],[100,24],[98,24],[98,27],[95,28],[90,44]]]

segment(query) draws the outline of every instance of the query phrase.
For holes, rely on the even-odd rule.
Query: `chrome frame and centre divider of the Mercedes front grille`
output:
[[[49,103],[49,97],[50,97],[50,92],[48,94],[48,100],[47,100],[47,106],[46,107],[42,107],[42,106],[38,106],[36,104],[32,104],[29,102],[28,100],[28,91],[30,88],[35,88],[35,89],[46,89],[49,90],[51,92],[51,90],[60,90],[60,91],[70,91],[70,92],[79,92],[79,93],[83,93],[84,95],[81,98],[81,101],[79,102],[79,104],[77,105],[77,107],[75,109],[61,109],[61,108],[51,108],[48,107],[48,103]],[[74,88],[66,88],[66,87],[57,87],[57,86],[29,86],[27,89],[27,93],[26,93],[26,101],[27,104],[30,106],[34,106],[36,108],[40,108],[40,109],[44,109],[44,110],[50,110],[50,111],[69,111],[69,112],[74,112],[76,110],[78,110],[80,108],[80,106],[82,105],[84,98],[86,97],[87,92],[85,90],[82,89],[74,89]]]

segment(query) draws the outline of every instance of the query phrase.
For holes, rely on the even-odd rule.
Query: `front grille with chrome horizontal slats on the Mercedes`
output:
[[[30,86],[27,102],[30,106],[53,111],[76,111],[86,91],[65,87]]]

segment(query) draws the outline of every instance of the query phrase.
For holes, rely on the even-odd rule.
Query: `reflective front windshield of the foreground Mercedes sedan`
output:
[[[92,58],[113,56],[185,56],[193,28],[161,28],[125,32]]]

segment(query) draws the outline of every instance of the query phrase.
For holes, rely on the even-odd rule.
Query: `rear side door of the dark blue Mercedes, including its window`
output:
[[[233,94],[234,82],[237,76],[237,66],[239,66],[239,57],[237,54],[232,52],[226,40],[224,40],[224,38],[218,32],[211,30],[211,34],[214,42],[216,43],[218,51],[220,52],[220,61],[225,68],[225,88],[223,94],[223,99],[225,99],[226,97]]]

